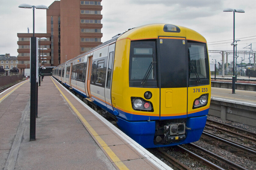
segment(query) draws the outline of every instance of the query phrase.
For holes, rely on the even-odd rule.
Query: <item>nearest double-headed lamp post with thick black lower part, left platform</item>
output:
[[[37,64],[37,38],[35,37],[35,8],[48,9],[46,5],[29,5],[21,4],[19,8],[32,8],[33,9],[33,37],[30,43],[30,141],[36,140],[36,116],[37,116],[37,96],[38,86],[36,82],[36,64]]]

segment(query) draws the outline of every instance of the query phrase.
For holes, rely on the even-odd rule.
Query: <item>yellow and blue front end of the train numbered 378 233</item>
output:
[[[206,40],[170,24],[116,39],[111,102],[117,124],[145,148],[199,140],[210,105]]]

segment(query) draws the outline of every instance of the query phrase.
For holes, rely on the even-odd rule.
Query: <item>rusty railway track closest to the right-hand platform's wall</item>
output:
[[[231,134],[238,138],[243,138],[248,141],[256,143],[256,133],[254,133],[254,132],[247,131],[245,129],[241,129],[239,127],[233,127],[228,124],[222,124],[220,122],[213,121],[213,120],[207,120],[206,126],[214,128],[215,130],[218,130],[220,132]]]

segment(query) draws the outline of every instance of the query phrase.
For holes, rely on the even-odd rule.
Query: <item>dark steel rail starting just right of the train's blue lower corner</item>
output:
[[[208,137],[208,138],[212,138],[213,140],[220,141],[223,144],[226,144],[227,146],[230,146],[230,147],[235,148],[239,151],[243,151],[244,153],[248,153],[248,154],[253,155],[254,157],[256,157],[256,151],[253,151],[252,149],[248,149],[244,146],[240,146],[238,144],[235,144],[235,143],[233,143],[233,141],[232,142],[227,141],[226,139],[219,138],[219,137],[217,137],[217,136],[215,136],[215,135],[213,135],[209,132],[203,132],[202,135],[205,136],[205,137]]]

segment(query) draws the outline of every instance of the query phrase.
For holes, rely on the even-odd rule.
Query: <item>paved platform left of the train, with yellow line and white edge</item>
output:
[[[29,141],[29,80],[0,94],[1,169],[171,169],[52,77],[38,87]]]

